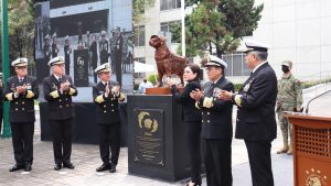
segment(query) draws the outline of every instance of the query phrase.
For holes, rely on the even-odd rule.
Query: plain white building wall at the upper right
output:
[[[254,39],[271,46],[269,62],[277,76],[285,59],[293,62],[300,78],[331,75],[331,1],[256,0],[256,4],[261,2],[265,8]]]

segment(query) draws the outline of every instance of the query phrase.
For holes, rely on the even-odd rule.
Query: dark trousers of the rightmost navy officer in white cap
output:
[[[253,186],[274,186],[270,141],[246,141]]]

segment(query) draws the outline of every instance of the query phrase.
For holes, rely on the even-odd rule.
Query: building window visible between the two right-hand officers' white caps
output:
[[[250,70],[245,64],[244,53],[225,54],[222,59],[227,64],[226,76],[249,76]]]

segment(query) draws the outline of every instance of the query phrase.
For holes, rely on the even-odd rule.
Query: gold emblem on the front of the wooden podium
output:
[[[327,176],[319,169],[307,169],[306,171],[306,186],[327,186]]]

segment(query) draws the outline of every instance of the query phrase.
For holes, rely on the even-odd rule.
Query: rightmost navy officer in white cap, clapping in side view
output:
[[[277,77],[267,62],[268,47],[254,41],[246,46],[249,78],[238,94],[224,90],[218,97],[238,107],[236,138],[245,140],[253,186],[274,186],[270,149],[276,138]]]

